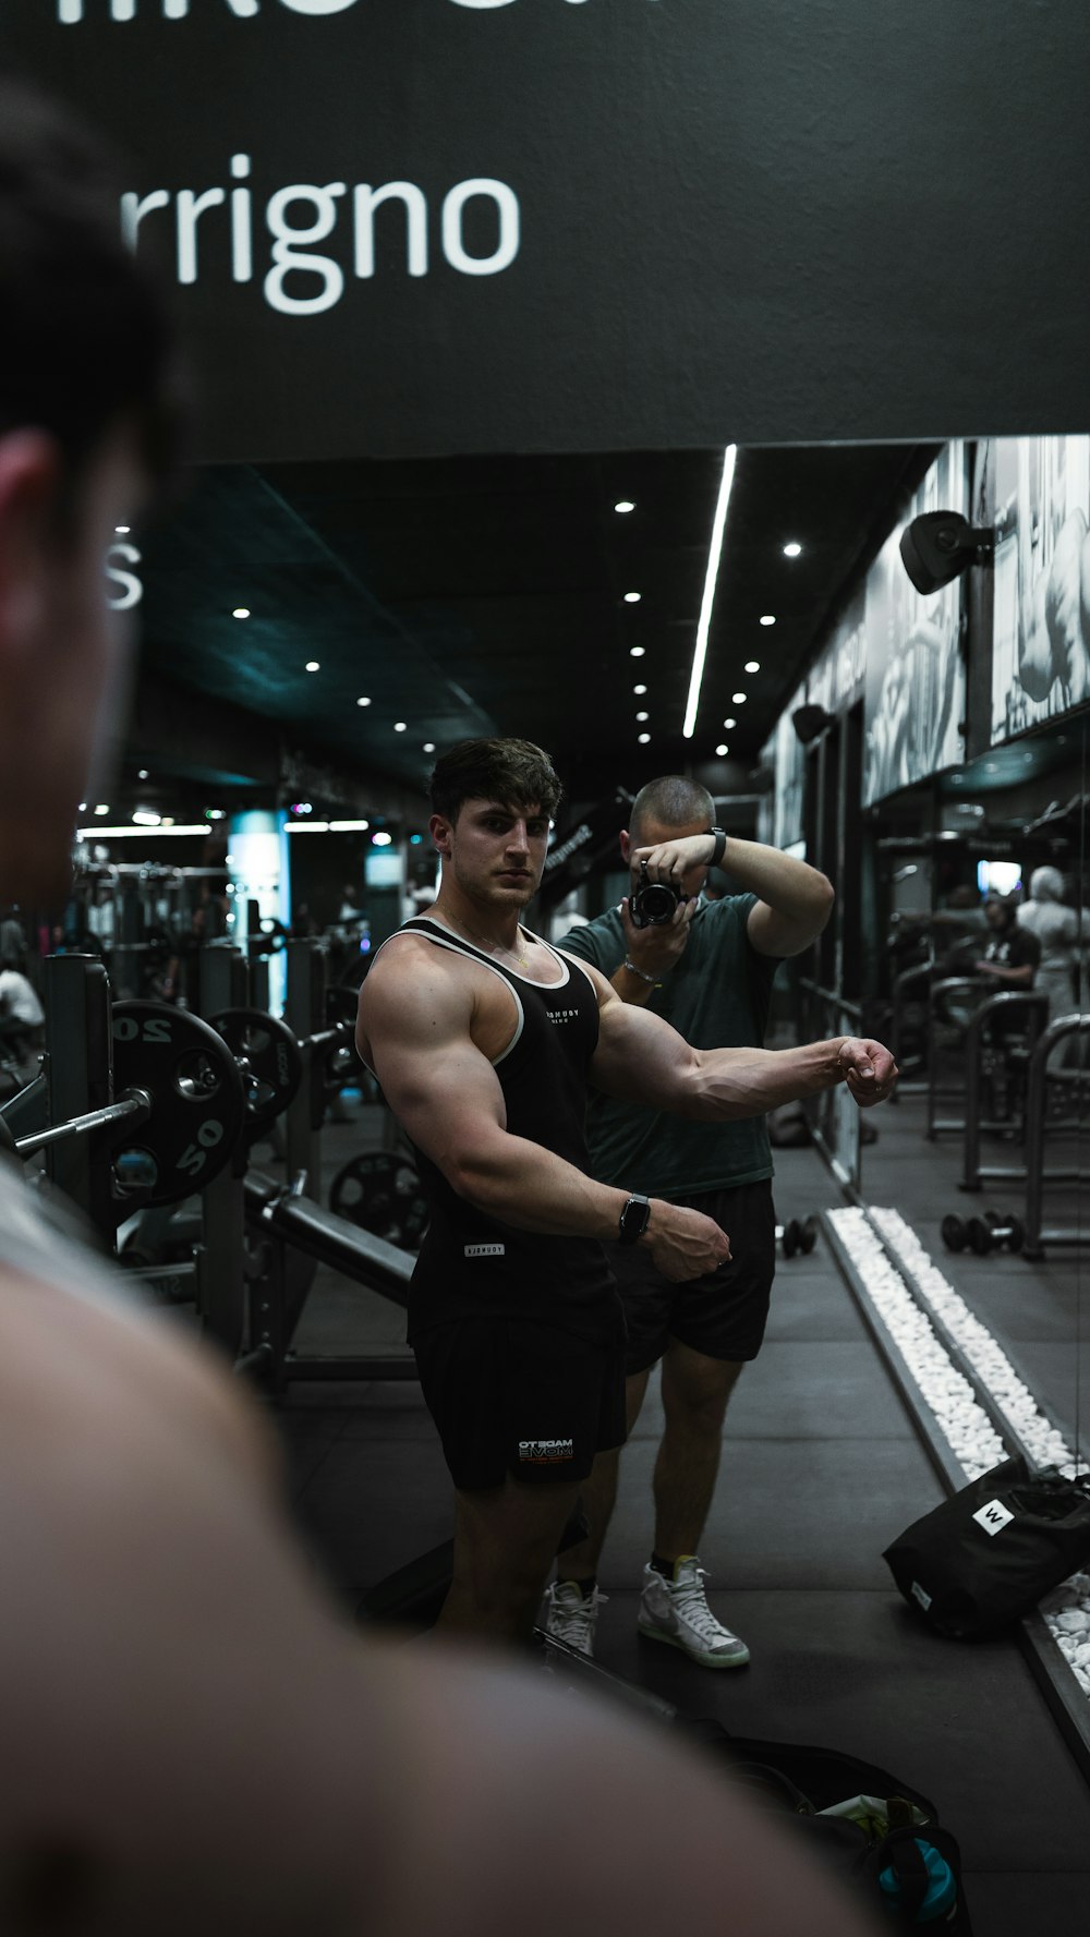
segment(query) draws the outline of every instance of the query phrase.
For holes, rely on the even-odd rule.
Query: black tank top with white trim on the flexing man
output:
[[[550,949],[561,980],[542,986],[428,916],[405,922],[399,934],[407,932],[480,963],[505,982],[515,998],[511,1038],[494,1069],[507,1129],[589,1174],[587,1069],[598,1046],[590,976]],[[587,1338],[616,1335],[621,1307],[594,1238],[515,1230],[459,1197],[424,1151],[416,1151],[416,1162],[432,1216],[409,1290],[410,1338],[463,1317],[532,1319]]]

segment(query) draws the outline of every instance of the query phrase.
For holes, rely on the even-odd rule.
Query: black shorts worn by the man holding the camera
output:
[[[716,1220],[730,1238],[730,1265],[705,1278],[672,1284],[656,1271],[645,1245],[608,1245],[629,1329],[627,1371],[654,1366],[670,1338],[707,1358],[757,1358],[776,1273],[772,1180],[672,1201]]]

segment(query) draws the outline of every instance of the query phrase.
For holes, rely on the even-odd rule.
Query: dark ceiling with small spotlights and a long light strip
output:
[[[364,781],[422,788],[426,742],[501,732],[546,746],[571,800],[681,767],[740,792],[935,449],[740,451],[689,742],[711,449],[197,471],[143,540],[143,664]]]

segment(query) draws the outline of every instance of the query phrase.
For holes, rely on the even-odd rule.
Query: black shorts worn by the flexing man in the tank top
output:
[[[461,1491],[585,1480],[625,1441],[623,1321],[604,1342],[532,1319],[457,1319],[414,1338],[424,1402]]]

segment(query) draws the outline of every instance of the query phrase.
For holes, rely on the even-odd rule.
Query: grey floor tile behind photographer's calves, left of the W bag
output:
[[[654,1445],[629,1443],[602,1553],[606,1592],[637,1581],[651,1553]],[[891,1588],[883,1548],[943,1497],[914,1439],[734,1439],[701,1559],[712,1592]]]

